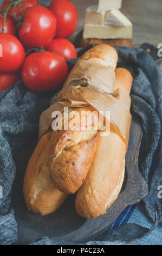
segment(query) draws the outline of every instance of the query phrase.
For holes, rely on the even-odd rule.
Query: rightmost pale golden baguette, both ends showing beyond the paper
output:
[[[115,88],[129,94],[132,75],[126,69],[116,69]],[[120,100],[120,99],[119,99]],[[131,100],[127,103],[130,107]],[[124,120],[121,120],[124,121]],[[103,215],[120,193],[125,173],[126,145],[114,132],[99,137],[98,147],[86,181],[77,191],[75,208],[85,218]]]

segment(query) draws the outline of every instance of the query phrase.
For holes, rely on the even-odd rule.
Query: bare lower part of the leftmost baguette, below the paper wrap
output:
[[[67,198],[57,190],[49,175],[49,150],[52,130],[38,141],[24,178],[23,193],[28,210],[47,215],[57,210]]]

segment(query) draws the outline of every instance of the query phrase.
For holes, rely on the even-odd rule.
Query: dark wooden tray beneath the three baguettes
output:
[[[95,239],[111,225],[126,206],[135,204],[147,196],[146,182],[137,167],[141,138],[140,121],[133,116],[122,190],[105,215],[89,220],[77,215],[74,207],[75,195],[68,196],[60,209],[47,216],[34,214],[27,210],[23,199],[22,186],[25,169],[37,139],[35,138],[28,145],[25,145],[15,158],[17,174],[12,192],[12,207],[15,210],[18,226],[16,244],[29,244],[43,236],[48,236],[55,241],[70,243],[83,243]]]

